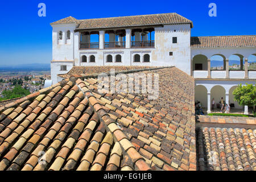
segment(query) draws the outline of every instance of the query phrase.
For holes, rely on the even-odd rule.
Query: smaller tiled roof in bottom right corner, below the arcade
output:
[[[197,169],[256,170],[256,119],[196,117]]]

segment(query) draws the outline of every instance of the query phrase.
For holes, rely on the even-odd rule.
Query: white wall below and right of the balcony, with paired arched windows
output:
[[[176,30],[176,32],[174,32]],[[79,49],[79,32],[75,32],[75,65],[174,65],[190,74],[190,24],[168,25],[155,28],[155,48],[123,48],[123,49]],[[177,44],[172,44],[172,37],[177,37]],[[169,55],[173,52],[173,56]],[[107,63],[106,56],[115,57],[120,54],[122,63]],[[134,62],[134,55],[141,56],[141,62]],[[150,55],[150,63],[143,62],[143,55]],[[82,56],[87,56],[87,63],[82,63]],[[89,62],[89,56],[94,55],[95,63]]]

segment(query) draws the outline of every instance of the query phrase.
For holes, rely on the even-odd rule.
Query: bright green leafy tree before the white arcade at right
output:
[[[239,84],[233,91],[234,100],[242,106],[253,106],[255,110],[256,105],[256,86],[253,84],[247,84],[242,86]]]

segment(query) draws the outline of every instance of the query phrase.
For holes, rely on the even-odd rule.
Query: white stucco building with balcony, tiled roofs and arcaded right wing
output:
[[[195,78],[195,100],[210,113],[210,102],[224,97],[241,108],[232,92],[238,84],[255,84],[248,59],[256,56],[256,35],[191,37],[191,20],[176,13],[77,20],[72,16],[51,23],[52,84],[73,66],[175,66]],[[96,37],[96,39],[95,39]],[[240,59],[230,70],[229,57]],[[223,59],[211,68],[211,57]],[[247,107],[245,107],[247,113]]]

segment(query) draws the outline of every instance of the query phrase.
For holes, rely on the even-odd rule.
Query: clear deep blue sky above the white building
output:
[[[38,4],[46,4],[46,17]],[[208,15],[216,3],[217,17]],[[50,63],[52,27],[49,23],[77,19],[157,13],[178,13],[193,21],[192,36],[255,35],[255,0],[195,1],[3,1],[0,6],[0,65]]]

